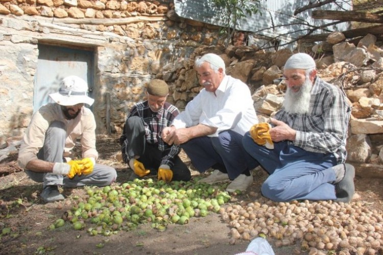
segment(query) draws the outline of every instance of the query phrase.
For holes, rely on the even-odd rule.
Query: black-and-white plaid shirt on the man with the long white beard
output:
[[[316,78],[308,113],[289,114],[282,108],[274,118],[297,131],[294,145],[307,151],[334,154],[338,164],[347,157],[346,138],[351,108],[342,91]]]

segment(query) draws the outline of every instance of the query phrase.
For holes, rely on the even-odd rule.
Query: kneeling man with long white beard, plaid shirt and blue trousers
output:
[[[246,151],[270,173],[262,194],[275,201],[349,202],[355,170],[345,164],[351,109],[344,93],[317,77],[314,59],[304,53],[286,61],[283,76],[283,108],[270,119],[274,148],[254,142],[252,132],[243,139]]]

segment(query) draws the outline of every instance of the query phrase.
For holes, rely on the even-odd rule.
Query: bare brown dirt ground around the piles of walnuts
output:
[[[100,163],[117,170],[114,185],[126,182],[131,171],[116,160],[119,144],[116,138],[98,139]],[[0,254],[236,254],[244,252],[250,241],[237,240],[230,244],[230,226],[221,216],[210,213],[206,217],[192,217],[185,225],[169,224],[160,232],[149,224],[140,224],[136,230],[119,231],[116,235],[90,236],[85,230],[75,231],[70,223],[56,230],[47,227],[75,202],[74,197],[85,196],[84,189],[64,189],[64,201],[44,204],[40,197],[42,185],[32,182],[15,163],[17,155],[0,162],[0,173],[5,168],[13,173],[0,177],[0,230],[11,227],[11,233],[0,235]],[[182,157],[188,162],[186,156]],[[190,164],[189,164],[190,165]],[[193,170],[193,176],[198,172]],[[363,174],[356,166],[354,201],[382,214],[382,175]],[[380,172],[380,169],[377,170]],[[259,193],[260,184],[267,177],[264,171],[256,172],[254,182],[246,193],[235,196],[229,204],[251,200],[251,192]],[[227,205],[226,205],[227,206]],[[275,247],[275,240],[268,239],[275,254],[308,254],[300,243]]]

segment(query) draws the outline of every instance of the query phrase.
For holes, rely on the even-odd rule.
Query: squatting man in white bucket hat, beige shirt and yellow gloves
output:
[[[87,83],[74,75],[61,82],[59,92],[49,96],[56,103],[42,106],[32,116],[22,140],[18,164],[29,177],[43,184],[45,202],[63,200],[58,186],[107,186],[116,179],[114,168],[97,164],[95,120]],[[82,160],[71,159],[71,149],[81,137]]]

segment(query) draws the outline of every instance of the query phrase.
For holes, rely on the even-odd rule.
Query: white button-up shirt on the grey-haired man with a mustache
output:
[[[249,87],[241,80],[225,75],[215,94],[202,89],[172,125],[180,129],[199,123],[217,127],[217,132],[210,137],[217,137],[224,130],[244,135],[258,123]]]

